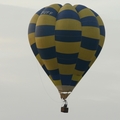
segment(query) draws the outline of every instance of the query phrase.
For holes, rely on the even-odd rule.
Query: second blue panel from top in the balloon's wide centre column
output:
[[[62,42],[81,41],[81,31],[55,30],[55,40]]]

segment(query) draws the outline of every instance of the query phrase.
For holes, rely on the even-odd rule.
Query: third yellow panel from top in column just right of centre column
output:
[[[85,60],[85,61],[91,61],[95,52],[96,52],[95,50],[88,50],[88,49],[80,47],[78,58]]]

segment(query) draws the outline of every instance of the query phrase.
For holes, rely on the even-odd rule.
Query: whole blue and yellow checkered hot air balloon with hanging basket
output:
[[[84,5],[52,4],[32,17],[28,38],[38,62],[66,99],[98,57],[105,28],[100,16]]]

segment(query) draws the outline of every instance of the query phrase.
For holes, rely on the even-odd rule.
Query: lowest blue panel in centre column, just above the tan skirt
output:
[[[60,75],[62,85],[70,85],[72,75]]]

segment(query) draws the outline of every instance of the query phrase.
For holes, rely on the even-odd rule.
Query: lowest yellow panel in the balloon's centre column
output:
[[[59,73],[63,75],[73,74],[73,70],[75,68],[75,64],[70,64],[70,65],[58,64],[58,66],[59,66]]]

